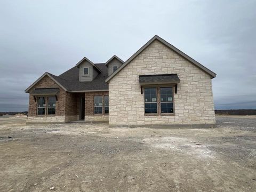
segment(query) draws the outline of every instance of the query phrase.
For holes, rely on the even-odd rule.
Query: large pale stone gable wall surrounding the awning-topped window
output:
[[[175,115],[145,116],[139,75],[178,74]],[[109,82],[109,125],[215,124],[211,77],[155,40]]]

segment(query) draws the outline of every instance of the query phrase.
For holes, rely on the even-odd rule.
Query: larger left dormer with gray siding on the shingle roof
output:
[[[79,61],[76,64],[76,67],[79,68],[80,82],[91,82],[95,77],[97,77],[97,75],[102,73],[102,71],[86,57]]]

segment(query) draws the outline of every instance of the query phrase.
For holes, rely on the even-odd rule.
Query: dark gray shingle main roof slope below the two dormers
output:
[[[77,67],[73,67],[59,76],[50,75],[69,91],[108,90],[108,84],[105,82],[108,77],[108,68],[105,66],[105,63],[95,63],[94,65],[102,73],[91,82],[79,82],[79,68]]]

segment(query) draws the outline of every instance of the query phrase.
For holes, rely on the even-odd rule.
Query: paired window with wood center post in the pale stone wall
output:
[[[173,114],[173,87],[144,89],[145,114]]]

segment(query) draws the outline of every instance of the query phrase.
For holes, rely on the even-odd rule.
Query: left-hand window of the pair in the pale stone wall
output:
[[[145,88],[145,114],[157,114],[156,88]]]

